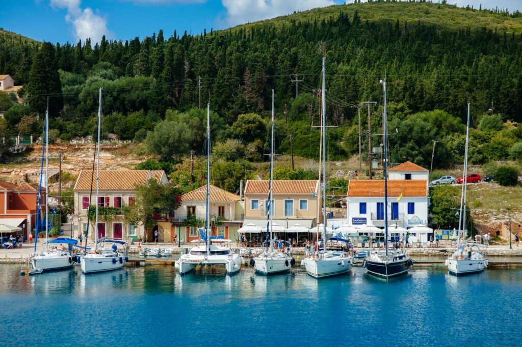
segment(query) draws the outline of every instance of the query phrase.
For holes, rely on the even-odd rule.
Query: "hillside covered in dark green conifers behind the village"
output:
[[[125,42],[41,43],[38,52],[31,42],[0,36],[0,73],[9,73],[16,84],[25,85],[29,104],[8,110],[6,119],[12,131],[38,132],[35,123],[17,125],[23,115],[43,113],[50,96],[54,135],[68,140],[89,134],[102,86],[105,131],[121,139],[143,140],[147,130],[165,117],[188,119],[190,113],[184,112],[197,107],[201,95],[201,106],[209,97],[215,112],[215,139],[234,138],[247,145],[254,141],[248,135],[252,132],[241,132],[234,124],[240,115],[265,115],[275,89],[279,118],[288,105],[289,126],[280,132],[280,151],[288,151],[288,135],[293,133],[296,153],[313,157],[316,148],[310,143],[317,133],[310,123],[317,117],[314,90],[319,87],[322,57],[318,43],[325,42],[327,114],[330,122],[340,125],[331,131],[336,139],[331,141],[332,151],[339,157],[354,152],[355,111],[349,106],[360,101],[380,104],[378,80],[386,73],[394,128],[406,127],[409,118],[416,119],[413,116],[452,117],[451,124],[456,117],[453,128],[443,125],[443,129],[420,131],[426,143],[392,152],[397,161],[408,158],[425,165],[432,139],[462,132],[467,102],[472,105],[474,126],[492,105],[501,122],[522,120],[521,21],[518,12],[372,2],[314,9],[195,36],[165,35],[160,30]],[[294,74],[304,80],[296,100]],[[444,112],[437,117],[419,116],[432,110]],[[378,114],[377,108],[374,111]],[[255,118],[248,117],[240,120],[248,123]],[[374,118],[378,127],[379,117]],[[404,135],[412,131],[404,129]],[[477,138],[481,145],[506,144],[491,132]],[[509,141],[517,142],[516,136]],[[508,156],[509,148],[499,154],[496,144],[490,147],[477,154],[477,162]],[[448,151],[437,147],[435,165],[452,164]]]

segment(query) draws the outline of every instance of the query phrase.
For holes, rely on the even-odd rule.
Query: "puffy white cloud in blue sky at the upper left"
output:
[[[107,28],[107,19],[95,14],[87,7],[81,9],[81,0],[51,0],[51,6],[67,9],[65,20],[72,24],[77,40],[100,42],[103,35],[111,38],[112,32]]]

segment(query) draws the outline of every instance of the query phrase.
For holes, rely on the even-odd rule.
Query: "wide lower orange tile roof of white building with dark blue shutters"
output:
[[[388,196],[428,196],[425,180],[388,180]],[[384,196],[384,180],[350,180],[348,197]]]

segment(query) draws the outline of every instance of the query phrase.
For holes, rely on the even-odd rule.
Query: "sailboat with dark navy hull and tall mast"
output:
[[[369,274],[386,279],[405,275],[413,262],[402,250],[388,250],[388,129],[386,118],[386,79],[383,84],[383,128],[384,128],[384,240],[385,250],[372,250],[363,261],[363,267]],[[404,244],[404,243],[403,243]]]

